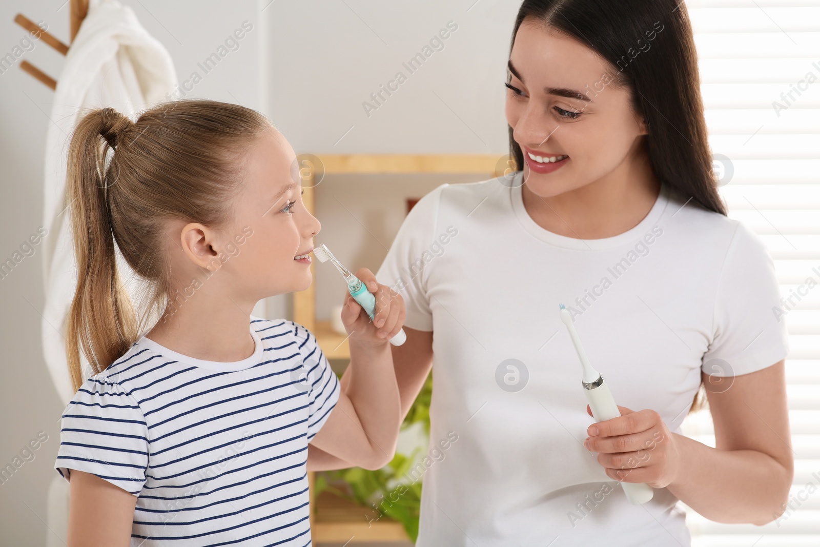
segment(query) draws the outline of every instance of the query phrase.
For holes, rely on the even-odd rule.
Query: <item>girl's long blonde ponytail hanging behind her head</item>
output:
[[[77,125],[68,151],[66,200],[71,207],[77,287],[66,326],[66,356],[74,390],[84,381],[80,349],[92,375],[103,372],[136,340],[136,319],[116,268],[107,174],[108,150],[134,125],[113,108],[91,112]]]

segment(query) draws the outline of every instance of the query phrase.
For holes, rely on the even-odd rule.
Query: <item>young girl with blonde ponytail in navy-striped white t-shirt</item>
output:
[[[310,331],[251,315],[311,282],[320,224],[294,165],[271,123],[233,104],[166,103],[136,122],[103,108],[77,126],[66,190],[77,393],[55,463],[71,482],[70,547],[310,545],[307,445],[368,469],[392,458],[388,340],[402,298],[357,272],[378,305],[371,322],[346,299],[358,372],[341,389]],[[140,321],[115,244],[148,282]],[[94,372],[85,381],[80,348]]]

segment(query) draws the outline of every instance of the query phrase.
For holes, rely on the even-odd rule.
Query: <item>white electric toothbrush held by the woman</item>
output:
[[[613,419],[613,417],[621,416],[621,411],[618,410],[617,404],[615,404],[613,394],[609,391],[608,385],[604,383],[604,377],[590,365],[590,360],[586,358],[586,353],[581,347],[581,340],[578,339],[578,333],[575,331],[575,326],[572,325],[572,315],[563,304],[560,304],[560,307],[561,321],[567,326],[570,338],[572,338],[572,344],[575,345],[575,351],[578,353],[578,359],[581,360],[581,370],[583,371],[581,385],[584,386],[584,394],[587,402],[590,403],[595,422],[604,422]],[[618,482],[623,486],[626,499],[629,499],[633,505],[645,504],[654,495],[652,487],[643,482]]]

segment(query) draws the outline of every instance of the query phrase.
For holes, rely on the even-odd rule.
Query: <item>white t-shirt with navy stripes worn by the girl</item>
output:
[[[142,336],[63,412],[54,467],[138,496],[131,545],[311,545],[307,444],[339,380],[309,330],[250,320],[247,359],[189,358]]]

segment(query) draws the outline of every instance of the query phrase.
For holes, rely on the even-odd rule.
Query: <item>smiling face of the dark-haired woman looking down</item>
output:
[[[617,69],[531,20],[518,29],[508,68],[507,122],[534,194],[563,194],[628,168],[645,129],[629,90],[613,85]]]

